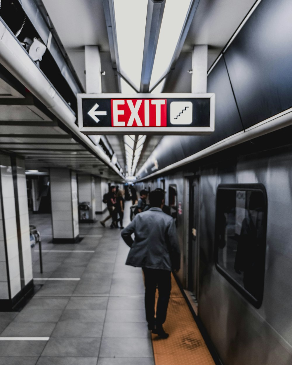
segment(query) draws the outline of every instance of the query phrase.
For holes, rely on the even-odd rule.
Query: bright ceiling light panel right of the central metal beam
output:
[[[184,25],[190,2],[190,0],[180,0],[179,6],[177,0],[167,0],[165,2],[150,89],[168,69]],[[160,88],[155,88],[157,89],[156,92],[160,92],[161,88],[162,85]]]

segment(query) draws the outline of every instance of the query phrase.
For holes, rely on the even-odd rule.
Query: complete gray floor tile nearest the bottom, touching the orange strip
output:
[[[104,338],[101,340],[99,357],[152,357],[150,339]]]

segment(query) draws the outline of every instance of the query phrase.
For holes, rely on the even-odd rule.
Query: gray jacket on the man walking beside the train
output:
[[[126,265],[162,270],[180,268],[176,226],[173,218],[160,208],[137,214],[121,234],[131,247]]]

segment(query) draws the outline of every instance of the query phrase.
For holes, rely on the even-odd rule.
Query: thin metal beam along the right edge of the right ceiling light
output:
[[[178,57],[180,56],[181,50],[183,49],[183,45],[185,43],[185,39],[187,38],[189,28],[191,27],[193,17],[197,11],[197,7],[200,3],[200,0],[192,0],[191,4],[189,5],[187,16],[184,21],[183,28],[181,29],[180,37],[178,38],[178,42],[176,45],[176,49],[174,50],[172,59],[170,61],[170,64],[168,66],[168,69],[164,73],[164,76],[162,76],[161,81],[168,76],[169,73],[174,69],[176,62],[178,60]],[[166,82],[164,84],[164,87],[162,89],[162,92],[165,92],[167,87],[168,78],[166,78]]]

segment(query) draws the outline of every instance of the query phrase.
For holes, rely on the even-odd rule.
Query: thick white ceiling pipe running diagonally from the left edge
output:
[[[0,63],[35,95],[66,127],[68,127],[93,154],[110,167],[116,174],[124,178],[110,158],[98,146],[81,133],[75,124],[76,116],[59,95],[54,86],[46,78],[27,54],[18,39],[0,19]]]

